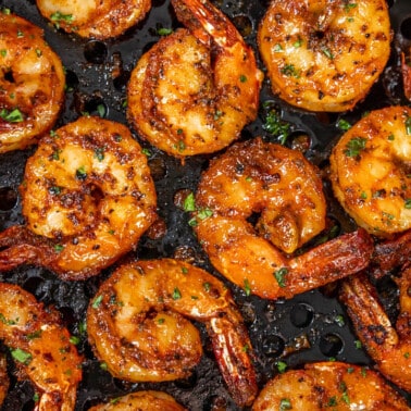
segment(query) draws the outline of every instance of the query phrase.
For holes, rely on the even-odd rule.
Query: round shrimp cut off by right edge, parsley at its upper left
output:
[[[331,155],[335,196],[376,236],[411,228],[411,109],[375,110],[344,134]]]

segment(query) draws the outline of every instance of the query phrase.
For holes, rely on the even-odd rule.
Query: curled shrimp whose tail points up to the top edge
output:
[[[141,137],[177,158],[214,152],[256,119],[262,73],[215,7],[172,3],[188,29],[162,38],[139,60],[128,85],[128,119]]]

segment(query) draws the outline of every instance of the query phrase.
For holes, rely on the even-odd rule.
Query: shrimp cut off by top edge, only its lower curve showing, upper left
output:
[[[37,7],[55,27],[103,40],[140,22],[151,9],[151,0],[37,0]]]

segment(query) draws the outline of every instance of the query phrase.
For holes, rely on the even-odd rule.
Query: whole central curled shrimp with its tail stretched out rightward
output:
[[[200,179],[194,229],[211,263],[262,298],[291,298],[368,265],[364,231],[286,257],[323,231],[326,204],[315,169],[298,152],[257,138],[235,144]],[[260,214],[256,228],[248,221]]]

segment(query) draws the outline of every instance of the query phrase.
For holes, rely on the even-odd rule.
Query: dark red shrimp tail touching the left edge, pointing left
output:
[[[0,234],[0,272],[23,264],[51,266],[55,259],[52,247],[23,225],[7,228]]]

